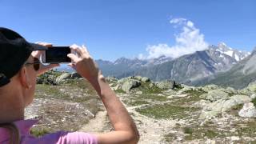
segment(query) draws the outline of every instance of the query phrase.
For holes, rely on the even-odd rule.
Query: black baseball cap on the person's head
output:
[[[10,82],[34,50],[47,50],[47,47],[26,42],[20,34],[0,27],[0,87]]]

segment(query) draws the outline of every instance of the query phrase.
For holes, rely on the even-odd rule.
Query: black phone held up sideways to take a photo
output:
[[[42,52],[42,63],[66,63],[71,62],[67,57],[70,54],[70,46],[53,46]]]

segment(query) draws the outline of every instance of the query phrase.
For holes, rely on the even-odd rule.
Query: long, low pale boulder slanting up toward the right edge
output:
[[[222,98],[218,101],[211,102],[207,106],[202,109],[202,113],[200,114],[200,119],[208,119],[213,118],[217,114],[221,114],[226,110],[230,110],[231,107],[237,106],[246,102],[250,102],[252,98],[247,95],[234,95],[229,98]]]

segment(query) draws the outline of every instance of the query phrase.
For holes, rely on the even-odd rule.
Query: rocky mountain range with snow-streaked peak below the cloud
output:
[[[250,52],[236,50],[224,42],[219,42],[217,46],[211,45],[206,50],[196,51],[179,58],[161,56],[152,59],[130,59],[123,57],[114,62],[102,59],[96,62],[105,76],[124,78],[141,75],[153,81],[172,79],[187,85],[201,85],[212,82],[218,78],[218,74],[230,72],[251,55]],[[246,65],[246,67],[250,66]],[[252,70],[246,67],[246,72]],[[70,70],[66,69],[66,71]]]

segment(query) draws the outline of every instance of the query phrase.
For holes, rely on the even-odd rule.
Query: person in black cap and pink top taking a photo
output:
[[[24,110],[34,99],[36,77],[58,66],[44,66],[41,52],[51,45],[26,42],[13,30],[0,28],[0,143],[137,143],[139,134],[125,106],[103,77],[85,47],[70,46],[69,64],[97,91],[114,131],[106,134],[58,131],[40,138],[30,135],[37,120],[25,120]]]

